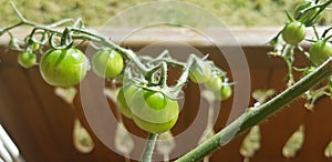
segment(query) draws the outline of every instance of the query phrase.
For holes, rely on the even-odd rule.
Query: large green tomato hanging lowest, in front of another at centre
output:
[[[177,101],[162,92],[139,90],[129,104],[132,117],[138,128],[149,133],[163,133],[170,130],[178,118]]]

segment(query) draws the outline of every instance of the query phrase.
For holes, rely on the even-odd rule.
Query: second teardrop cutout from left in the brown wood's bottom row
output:
[[[134,141],[123,123],[117,124],[114,144],[115,148],[124,154],[129,154],[134,149]]]

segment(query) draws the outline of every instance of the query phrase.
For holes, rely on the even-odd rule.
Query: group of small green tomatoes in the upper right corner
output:
[[[295,7],[293,16],[294,17],[288,14],[290,22],[284,26],[280,33],[287,44],[298,45],[305,38],[305,28],[313,26],[320,20],[321,7],[314,1],[303,1]],[[331,37],[325,38],[325,33],[328,33],[329,30],[331,29],[325,30],[321,38],[315,31],[317,40],[311,40],[313,44],[310,47],[309,54],[307,55],[314,65],[320,65],[332,57],[332,43],[329,42]],[[288,54],[292,52],[280,51],[279,55],[286,57],[286,60],[293,60],[283,53]]]

